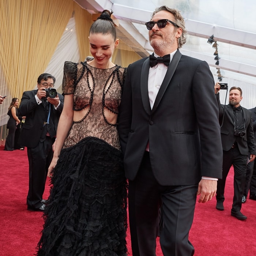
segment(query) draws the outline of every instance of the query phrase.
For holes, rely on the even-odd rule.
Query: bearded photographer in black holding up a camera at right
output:
[[[224,84],[214,86],[219,106],[219,121],[221,123],[221,141],[223,149],[222,179],[217,183],[217,205],[219,211],[224,210],[223,202],[226,177],[231,165],[234,167],[234,197],[231,215],[240,220],[247,217],[241,213],[242,196],[245,185],[246,164],[255,158],[255,138],[252,124],[252,112],[240,106],[242,90],[231,87],[229,104],[222,105],[219,101],[219,90],[227,90]],[[223,117],[224,115],[224,117]],[[222,121],[223,120],[223,121]]]

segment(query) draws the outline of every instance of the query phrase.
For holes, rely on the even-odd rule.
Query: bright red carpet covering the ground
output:
[[[24,151],[3,151],[0,147],[0,256],[32,256],[43,225],[42,212],[27,211],[28,161]],[[49,184],[49,181],[48,181]],[[46,186],[46,199],[49,186]],[[196,204],[190,241],[195,256],[255,256],[256,201],[247,200],[242,213],[248,219],[231,217],[233,169],[227,177],[225,211],[215,209],[216,200]],[[128,251],[131,254],[129,230]],[[157,256],[162,256],[159,242]]]

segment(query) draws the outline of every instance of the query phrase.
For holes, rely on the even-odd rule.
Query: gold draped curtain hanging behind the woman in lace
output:
[[[93,21],[91,14],[75,1],[0,0],[0,66],[12,97],[21,99],[23,91],[34,89],[72,16],[76,22],[78,61],[84,61],[90,55],[88,36]],[[138,59],[135,52],[120,49],[113,56],[113,62],[117,60],[123,67]]]

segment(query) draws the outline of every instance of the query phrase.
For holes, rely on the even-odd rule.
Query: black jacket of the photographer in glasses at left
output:
[[[41,134],[43,132],[44,122],[47,121],[47,114],[44,104],[37,104],[35,100],[35,95],[38,90],[25,91],[22,95],[19,112],[21,116],[26,116],[25,123],[23,124],[20,144],[26,147],[33,148],[37,146]],[[56,110],[53,105],[51,105],[50,114],[54,118],[54,129],[57,132],[57,126],[59,123],[60,114],[63,110],[64,97],[59,94],[60,105]]]

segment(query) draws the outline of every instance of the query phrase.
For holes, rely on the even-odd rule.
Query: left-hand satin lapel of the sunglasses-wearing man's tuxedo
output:
[[[148,71],[150,68],[149,58],[147,58],[142,65],[142,72],[140,76],[140,92],[143,107],[146,110],[147,114],[151,113],[151,107],[148,97]]]

